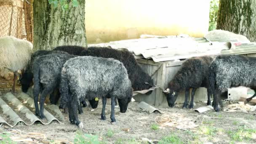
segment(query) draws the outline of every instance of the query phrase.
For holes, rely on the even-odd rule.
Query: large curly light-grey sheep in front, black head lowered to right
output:
[[[80,56],[69,59],[61,71],[61,104],[60,108],[68,106],[69,121],[83,128],[83,123],[77,117],[79,100],[102,97],[103,108],[101,120],[105,120],[107,96],[111,97],[111,122],[115,123],[115,97],[118,100],[120,112],[126,112],[132,97],[131,81],[123,63],[115,59]]]

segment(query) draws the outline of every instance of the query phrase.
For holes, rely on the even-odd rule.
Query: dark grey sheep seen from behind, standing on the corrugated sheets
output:
[[[32,72],[34,75],[34,101],[35,114],[41,119],[45,118],[43,114],[43,107],[45,96],[52,93],[56,88],[59,88],[61,79],[61,69],[64,63],[74,58],[74,55],[69,55],[64,51],[55,51],[54,53],[38,56],[33,62]],[[38,95],[40,95],[40,111],[38,108]]]

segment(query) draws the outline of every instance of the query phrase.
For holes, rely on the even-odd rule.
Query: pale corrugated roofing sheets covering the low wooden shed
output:
[[[235,49],[232,48],[232,50],[226,44],[227,42],[209,41],[204,37],[193,38],[181,35],[120,40],[88,46],[111,46],[115,49],[125,48],[133,53],[136,59],[153,59],[155,62],[174,61],[176,59],[187,59],[204,55],[256,52],[256,43],[243,43],[242,45],[235,46]]]

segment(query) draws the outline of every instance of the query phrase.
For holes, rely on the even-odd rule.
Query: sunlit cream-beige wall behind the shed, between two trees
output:
[[[139,38],[141,34],[202,37],[209,0],[86,0],[88,44]]]

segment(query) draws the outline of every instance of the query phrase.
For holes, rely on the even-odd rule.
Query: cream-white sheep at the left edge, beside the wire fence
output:
[[[13,36],[0,37],[0,76],[10,79],[8,72],[14,73],[13,92],[19,76],[18,70],[24,70],[27,67],[32,49],[32,43],[27,40]]]

